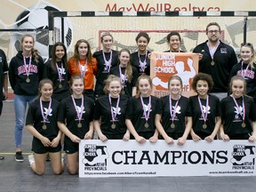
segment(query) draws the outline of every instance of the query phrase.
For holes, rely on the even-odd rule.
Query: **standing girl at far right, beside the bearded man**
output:
[[[246,82],[246,94],[251,96],[256,103],[256,62],[253,45],[242,44],[240,49],[241,61],[233,66],[230,72],[232,76],[243,76]]]

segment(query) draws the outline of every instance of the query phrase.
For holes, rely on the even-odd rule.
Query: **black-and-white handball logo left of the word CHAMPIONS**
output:
[[[84,171],[107,171],[108,148],[86,144],[84,146]]]

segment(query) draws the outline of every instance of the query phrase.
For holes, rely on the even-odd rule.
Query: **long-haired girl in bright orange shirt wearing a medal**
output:
[[[94,100],[94,76],[97,73],[97,60],[92,58],[91,45],[80,39],[76,42],[74,56],[68,60],[70,76],[84,77],[84,95]]]

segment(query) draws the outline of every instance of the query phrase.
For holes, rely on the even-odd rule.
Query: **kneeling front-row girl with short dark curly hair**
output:
[[[197,93],[189,98],[193,125],[193,140],[211,142],[219,132],[221,124],[220,100],[209,94],[213,86],[212,76],[199,73],[193,78],[192,88]]]

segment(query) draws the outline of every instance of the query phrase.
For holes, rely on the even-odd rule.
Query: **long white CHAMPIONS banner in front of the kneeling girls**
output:
[[[255,174],[255,143],[187,140],[180,147],[164,140],[82,140],[79,177],[249,176]]]

